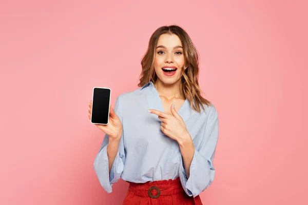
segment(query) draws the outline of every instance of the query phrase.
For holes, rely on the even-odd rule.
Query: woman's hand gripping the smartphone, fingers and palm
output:
[[[92,100],[89,102],[89,119],[91,119]],[[122,136],[122,122],[117,114],[115,114],[112,105],[109,108],[109,122],[107,125],[95,124],[100,130],[109,135],[109,138],[120,140]]]

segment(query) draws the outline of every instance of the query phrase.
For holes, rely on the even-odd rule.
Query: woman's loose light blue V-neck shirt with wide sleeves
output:
[[[186,99],[180,110],[195,146],[187,178],[178,142],[166,136],[160,129],[161,120],[149,109],[164,112],[159,93],[152,82],[131,92],[121,94],[114,111],[123,124],[119,151],[113,161],[110,176],[105,135],[99,153],[94,160],[94,170],[102,187],[112,192],[112,185],[120,178],[125,181],[168,180],[180,177],[188,196],[197,196],[214,180],[213,160],[218,140],[218,115],[213,104],[201,113],[190,108]]]

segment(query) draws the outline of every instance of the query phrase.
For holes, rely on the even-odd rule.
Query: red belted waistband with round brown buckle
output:
[[[179,177],[169,180],[147,181],[145,183],[129,182],[128,189],[137,196],[151,198],[184,192]]]

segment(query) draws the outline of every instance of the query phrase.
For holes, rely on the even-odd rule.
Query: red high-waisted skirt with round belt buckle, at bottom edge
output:
[[[202,205],[199,195],[194,198],[185,193],[179,177],[145,183],[127,182],[129,187],[123,205]]]

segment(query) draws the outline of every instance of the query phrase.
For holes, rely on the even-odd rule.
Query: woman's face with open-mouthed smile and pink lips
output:
[[[181,80],[185,58],[180,38],[175,34],[162,34],[157,42],[154,69],[158,80],[170,85]]]

